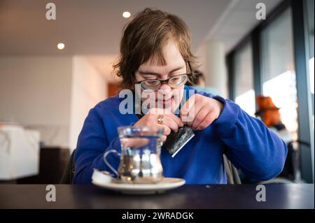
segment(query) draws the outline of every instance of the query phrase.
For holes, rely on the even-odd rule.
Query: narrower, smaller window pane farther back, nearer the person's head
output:
[[[255,92],[251,42],[246,43],[235,54],[235,102],[246,113],[254,116]]]

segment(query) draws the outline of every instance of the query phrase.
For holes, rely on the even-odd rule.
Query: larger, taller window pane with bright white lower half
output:
[[[297,89],[290,8],[261,33],[262,94],[280,108],[281,120],[297,138]]]

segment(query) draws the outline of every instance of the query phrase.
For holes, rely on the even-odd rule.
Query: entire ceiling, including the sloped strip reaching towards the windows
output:
[[[218,40],[228,52],[256,24],[255,5],[263,2],[267,12],[281,0],[54,0],[57,20],[45,19],[43,0],[0,1],[0,55],[85,55],[111,80],[112,64],[128,19],[146,7],[179,15],[192,33],[196,52],[206,40]],[[57,50],[59,42],[66,44]]]

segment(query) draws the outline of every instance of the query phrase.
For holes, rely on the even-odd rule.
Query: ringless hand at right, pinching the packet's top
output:
[[[223,110],[223,103],[201,94],[191,96],[179,112],[181,120],[194,130],[205,129]]]

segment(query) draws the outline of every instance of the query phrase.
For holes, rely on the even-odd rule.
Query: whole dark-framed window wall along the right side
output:
[[[314,182],[314,0],[281,1],[227,59],[230,98],[253,115],[255,94],[270,96],[293,140],[304,142],[301,176]]]

